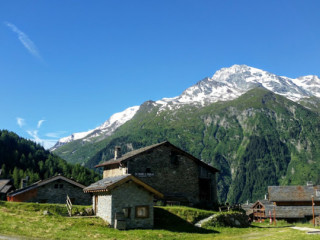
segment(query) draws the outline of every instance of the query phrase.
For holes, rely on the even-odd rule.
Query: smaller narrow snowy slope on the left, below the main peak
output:
[[[83,141],[90,141],[90,139],[94,137],[110,136],[114,132],[114,130],[116,130],[122,124],[130,120],[136,114],[139,108],[140,106],[129,107],[123,112],[113,114],[107,121],[105,121],[102,125],[100,125],[99,127],[93,130],[90,130],[87,132],[73,133],[68,137],[61,138],[51,148],[51,151],[54,151],[55,149],[65,145],[66,143],[69,143],[78,139],[83,139]]]

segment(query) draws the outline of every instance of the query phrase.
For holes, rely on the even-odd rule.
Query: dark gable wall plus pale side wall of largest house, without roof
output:
[[[106,166],[103,177],[132,174],[151,187],[163,193],[167,200],[185,201],[193,204],[203,203],[200,199],[200,178],[210,179],[207,192],[211,200],[205,204],[217,202],[216,174],[199,165],[174,148],[162,145],[146,151],[117,165]]]

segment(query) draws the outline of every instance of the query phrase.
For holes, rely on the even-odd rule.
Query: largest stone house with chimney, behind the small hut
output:
[[[217,203],[216,168],[170,142],[162,142],[115,157],[97,165],[103,178],[131,174],[164,194],[170,204],[214,205]]]

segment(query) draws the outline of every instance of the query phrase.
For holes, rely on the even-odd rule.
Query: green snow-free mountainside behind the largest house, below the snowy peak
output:
[[[269,185],[320,184],[319,115],[263,88],[203,108],[159,109],[149,101],[87,163],[168,140],[221,170],[220,201],[264,197]]]

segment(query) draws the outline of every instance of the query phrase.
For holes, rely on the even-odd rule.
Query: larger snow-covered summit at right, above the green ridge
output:
[[[291,79],[246,65],[233,65],[230,68],[218,70],[212,78],[201,80],[178,97],[163,98],[156,103],[162,105],[162,109],[173,108],[174,105],[179,104],[205,105],[233,100],[258,86],[293,101],[310,96],[320,97],[320,79],[317,76]]]

